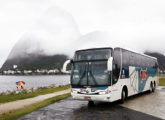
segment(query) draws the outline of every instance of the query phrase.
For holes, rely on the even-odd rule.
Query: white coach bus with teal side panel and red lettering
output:
[[[123,48],[78,50],[71,69],[73,99],[123,103],[127,97],[154,92],[158,81],[157,59]]]

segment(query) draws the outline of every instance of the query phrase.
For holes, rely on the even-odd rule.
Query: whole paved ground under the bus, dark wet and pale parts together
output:
[[[159,88],[152,94],[131,97],[122,106],[118,102],[97,102],[95,106],[89,107],[86,101],[72,100],[69,97],[19,120],[161,120],[165,118],[165,102],[162,101],[165,101],[164,88]],[[149,111],[154,111],[155,114]]]

